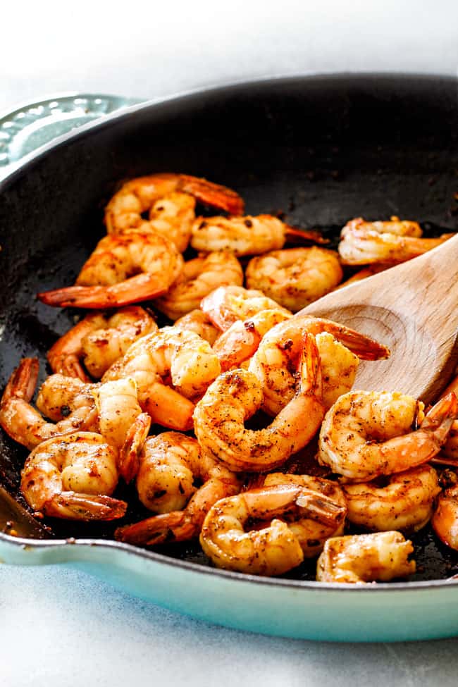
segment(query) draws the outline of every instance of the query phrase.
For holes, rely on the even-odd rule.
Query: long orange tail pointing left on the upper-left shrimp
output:
[[[112,286],[68,286],[37,294],[47,305],[63,308],[117,308],[166,293],[160,275],[139,274]]]

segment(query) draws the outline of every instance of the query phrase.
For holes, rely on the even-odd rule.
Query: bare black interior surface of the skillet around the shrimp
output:
[[[45,353],[75,312],[46,307],[35,293],[73,283],[104,234],[102,210],[120,180],[156,171],[202,175],[240,192],[249,213],[280,211],[330,237],[354,216],[393,214],[421,221],[433,235],[457,229],[456,118],[450,78],[293,78],[142,106],[52,147],[0,185],[1,385],[23,356],[39,355],[44,377]],[[22,504],[26,453],[1,433],[0,484]],[[126,488],[116,495],[135,502]],[[126,521],[140,516],[132,506]],[[59,538],[111,538],[114,528],[47,525]],[[457,573],[458,556],[438,547],[428,528],[414,541],[416,579]],[[194,543],[161,551],[206,562]],[[313,565],[288,576],[313,578]]]

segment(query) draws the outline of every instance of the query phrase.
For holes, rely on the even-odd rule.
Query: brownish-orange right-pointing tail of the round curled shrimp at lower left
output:
[[[42,508],[45,515],[67,520],[116,520],[122,518],[127,503],[110,496],[76,494],[73,491],[55,494]]]

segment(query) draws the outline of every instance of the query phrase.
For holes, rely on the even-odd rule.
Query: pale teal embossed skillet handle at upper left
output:
[[[63,93],[0,114],[0,178],[13,163],[59,136],[140,102],[116,95]]]

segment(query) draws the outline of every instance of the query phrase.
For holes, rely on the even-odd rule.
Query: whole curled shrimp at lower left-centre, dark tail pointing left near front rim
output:
[[[196,488],[194,479],[202,481]],[[142,503],[159,515],[119,528],[116,538],[154,545],[199,535],[211,506],[237,494],[237,476],[201,453],[191,437],[177,432],[147,439],[139,457],[137,490]]]

